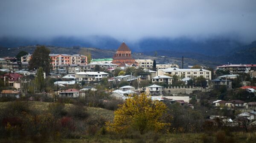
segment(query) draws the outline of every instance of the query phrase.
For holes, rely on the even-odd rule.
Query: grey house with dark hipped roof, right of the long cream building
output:
[[[227,79],[213,79],[209,82],[209,87],[212,88],[220,88],[222,86],[232,88],[232,81]]]

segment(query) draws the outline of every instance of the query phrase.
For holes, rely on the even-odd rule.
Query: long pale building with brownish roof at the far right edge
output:
[[[256,70],[256,64],[224,64],[216,67],[216,70],[228,70],[230,74],[248,73],[250,70]]]

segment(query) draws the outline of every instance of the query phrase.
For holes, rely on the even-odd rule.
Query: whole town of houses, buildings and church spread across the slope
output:
[[[70,104],[82,100],[89,107],[116,110],[118,104],[136,95],[147,95],[154,102],[186,110],[180,115],[195,110],[212,127],[248,131],[256,126],[256,64],[190,68],[157,64],[151,59],[134,59],[125,42],[113,57],[105,59],[50,53],[45,46],[38,46],[32,54],[21,51],[16,57],[3,57],[0,85],[2,102]],[[170,115],[178,119],[179,112]],[[185,119],[179,120],[171,121],[175,132],[198,132],[195,125],[188,131],[180,124]],[[204,128],[204,124],[196,126]]]

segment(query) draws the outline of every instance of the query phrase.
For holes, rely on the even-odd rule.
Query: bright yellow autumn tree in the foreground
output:
[[[159,131],[168,125],[161,120],[166,108],[163,102],[153,102],[145,94],[134,95],[134,98],[128,98],[119,105],[119,109],[114,112],[113,123],[108,122],[107,129],[117,133],[134,129],[140,134],[150,130]]]

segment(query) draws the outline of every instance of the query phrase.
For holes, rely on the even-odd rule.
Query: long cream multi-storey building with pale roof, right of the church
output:
[[[205,79],[212,79],[211,71],[205,69],[179,69],[177,67],[158,69],[157,76],[163,75],[176,75],[183,78],[197,78],[203,76]]]

